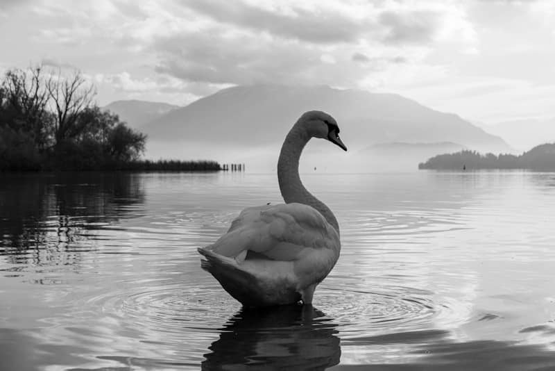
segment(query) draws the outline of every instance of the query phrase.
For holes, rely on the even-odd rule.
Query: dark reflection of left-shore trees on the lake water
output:
[[[143,201],[137,174],[4,174],[0,254],[12,263],[40,264],[42,249],[67,252],[75,242],[87,240],[88,230],[132,216],[128,206]],[[78,245],[87,251],[87,244]],[[35,254],[29,254],[32,250]],[[60,263],[72,264],[78,254],[64,254],[63,259],[69,261]]]

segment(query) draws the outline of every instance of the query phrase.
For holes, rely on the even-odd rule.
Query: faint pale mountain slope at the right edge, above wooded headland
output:
[[[551,119],[519,119],[482,126],[485,131],[499,135],[509,145],[525,151],[547,141],[555,142],[555,117]]]

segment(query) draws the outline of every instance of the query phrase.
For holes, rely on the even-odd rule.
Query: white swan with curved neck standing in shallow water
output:
[[[339,258],[339,224],[299,177],[300,154],[311,138],[347,151],[332,116],[318,110],[302,114],[285,137],[278,160],[285,204],[246,208],[227,233],[198,248],[203,270],[244,306],[311,304],[316,285]]]

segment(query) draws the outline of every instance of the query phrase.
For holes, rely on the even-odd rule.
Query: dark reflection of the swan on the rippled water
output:
[[[339,363],[336,325],[312,306],[243,308],[205,354],[203,370],[325,370]]]

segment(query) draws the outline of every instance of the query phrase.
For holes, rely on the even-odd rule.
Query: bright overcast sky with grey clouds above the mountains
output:
[[[552,0],[0,0],[0,35],[0,72],[77,67],[101,105],[303,83],[487,124],[555,117]]]

